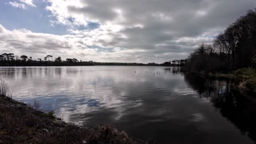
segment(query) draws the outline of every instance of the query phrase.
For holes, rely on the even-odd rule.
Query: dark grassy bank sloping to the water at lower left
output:
[[[32,106],[12,100],[11,97],[1,95],[0,143],[137,142],[113,125],[89,127],[65,123],[57,119],[53,112],[44,113]]]

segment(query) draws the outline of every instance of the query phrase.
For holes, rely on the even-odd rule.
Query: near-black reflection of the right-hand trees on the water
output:
[[[241,94],[228,80],[204,79],[189,74],[185,74],[184,78],[200,97],[210,98],[213,106],[234,123],[242,134],[256,141],[256,102],[251,95]]]

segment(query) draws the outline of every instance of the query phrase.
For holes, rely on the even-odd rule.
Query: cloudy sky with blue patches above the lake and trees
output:
[[[255,0],[1,0],[0,51],[162,63],[211,43]]]

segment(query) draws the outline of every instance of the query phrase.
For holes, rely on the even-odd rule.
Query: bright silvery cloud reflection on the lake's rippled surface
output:
[[[103,109],[114,111],[114,119],[118,121],[126,110],[141,107],[142,98],[155,92],[162,93],[159,95],[162,100],[174,99],[169,92],[177,95],[193,92],[184,87],[182,75],[172,75],[161,67],[17,67],[4,71],[12,71],[8,72],[14,75],[10,81],[19,83],[10,85],[15,89],[16,99],[26,103],[39,100],[42,109],[54,110],[68,122],[74,121],[75,111],[86,114]]]

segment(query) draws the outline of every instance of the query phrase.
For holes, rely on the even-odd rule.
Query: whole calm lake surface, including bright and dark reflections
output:
[[[165,67],[2,67],[13,98],[149,143],[255,143],[256,102],[225,80]],[[135,73],[136,71],[136,73]],[[158,74],[157,74],[158,73]],[[155,74],[155,75],[154,75]]]

